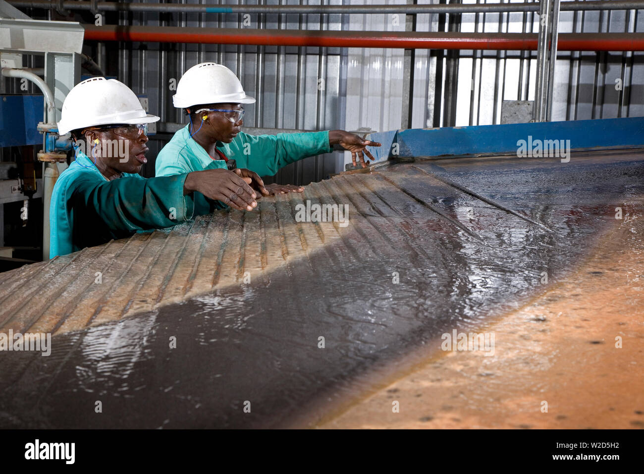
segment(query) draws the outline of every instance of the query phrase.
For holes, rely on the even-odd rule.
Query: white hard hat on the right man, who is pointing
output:
[[[252,104],[255,99],[243,92],[242,83],[229,68],[201,63],[181,77],[172,101],[176,108],[186,108],[200,104]]]

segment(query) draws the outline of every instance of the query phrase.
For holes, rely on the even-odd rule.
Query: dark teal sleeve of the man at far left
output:
[[[193,217],[193,198],[184,195],[185,177],[187,173],[149,179],[122,177],[103,183],[79,177],[71,199],[75,206],[97,213],[113,232],[166,228]]]

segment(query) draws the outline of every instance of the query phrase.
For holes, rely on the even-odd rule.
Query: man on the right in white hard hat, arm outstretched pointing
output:
[[[344,130],[278,135],[249,135],[242,132],[243,105],[255,99],[245,94],[242,83],[222,64],[201,63],[185,72],[176,87],[173,103],[183,108],[189,123],[175,133],[156,157],[156,176],[203,170],[213,163],[234,160],[261,176],[274,175],[279,168],[300,159],[328,153],[334,144],[352,152],[366,166],[366,146],[380,146]],[[222,164],[223,166],[223,164]],[[270,184],[270,193],[302,192],[301,186]],[[209,213],[215,204],[194,195],[196,214]]]

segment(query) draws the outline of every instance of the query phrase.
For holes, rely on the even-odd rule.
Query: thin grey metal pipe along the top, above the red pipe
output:
[[[10,1],[20,8],[57,8],[64,10],[91,10],[93,12],[161,12],[212,14],[463,14],[537,12],[539,3],[495,3],[471,5],[185,5],[162,3],[122,3],[100,1]],[[643,9],[639,1],[567,1],[562,12],[581,10],[636,10]]]

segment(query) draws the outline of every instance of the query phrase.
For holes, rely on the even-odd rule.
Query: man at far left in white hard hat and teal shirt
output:
[[[194,214],[193,193],[252,210],[268,195],[256,173],[213,164],[198,173],[145,179],[147,124],[137,96],[115,79],[94,77],[77,84],[62,104],[59,133],[71,132],[75,157],[52,192],[50,257],[175,226]]]

